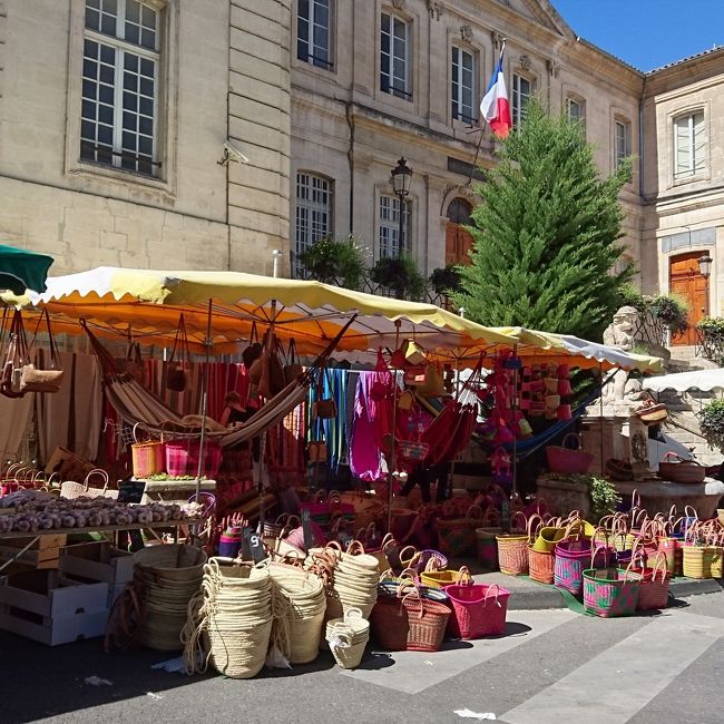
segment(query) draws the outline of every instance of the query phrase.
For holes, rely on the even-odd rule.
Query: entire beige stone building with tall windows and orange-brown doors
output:
[[[404,157],[404,246],[425,274],[464,261],[503,38],[515,123],[536,94],[584,124],[601,174],[636,157],[622,202],[644,291],[721,312],[724,50],[643,74],[548,0],[0,0],[0,238],[55,273],[270,274],[281,250],[294,274],[350,233],[372,263],[400,243]]]

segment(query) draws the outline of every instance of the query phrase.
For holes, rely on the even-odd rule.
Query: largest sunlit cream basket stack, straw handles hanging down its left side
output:
[[[256,676],[271,633],[268,568],[212,558],[204,567],[203,594],[192,601],[184,629],[187,672],[204,672],[211,662],[229,678]]]

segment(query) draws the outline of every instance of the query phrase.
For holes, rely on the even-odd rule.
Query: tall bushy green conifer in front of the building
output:
[[[482,324],[599,340],[634,273],[612,273],[623,252],[618,192],[629,178],[630,160],[601,179],[580,124],[531,101],[478,187],[472,264],[460,268],[453,302]]]

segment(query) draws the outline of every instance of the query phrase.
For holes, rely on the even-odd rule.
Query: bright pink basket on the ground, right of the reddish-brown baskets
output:
[[[446,586],[452,615],[448,632],[460,638],[499,636],[506,627],[510,591],[497,584],[464,584]]]

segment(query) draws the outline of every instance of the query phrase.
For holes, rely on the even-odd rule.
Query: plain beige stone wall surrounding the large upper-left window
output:
[[[133,12],[130,0],[89,4],[109,10],[119,33],[121,7]],[[291,0],[145,6],[158,35],[153,174],[80,153],[84,42],[117,48],[117,58],[136,48],[89,32],[85,0],[0,2],[0,239],[52,254],[56,274],[268,274],[271,250],[288,237]],[[116,96],[116,116],[123,102]],[[217,163],[227,139],[248,163]]]

